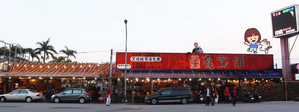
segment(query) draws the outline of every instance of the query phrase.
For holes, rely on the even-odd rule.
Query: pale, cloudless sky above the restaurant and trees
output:
[[[65,46],[78,52],[72,61],[105,63],[110,62],[111,49],[125,52],[126,25],[127,52],[163,53],[192,52],[198,43],[205,53],[253,54],[247,52],[244,34],[256,28],[262,40],[270,41],[267,54],[281,69],[280,39],[272,38],[271,12],[293,4],[299,1],[1,0],[0,40],[35,49],[36,42],[51,38],[57,52]],[[295,39],[289,38],[290,48],[294,45],[290,63],[299,63]],[[257,54],[266,53],[258,49]]]

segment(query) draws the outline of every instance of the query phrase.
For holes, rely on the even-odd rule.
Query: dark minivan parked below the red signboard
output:
[[[193,98],[188,88],[163,88],[154,94],[147,95],[144,101],[151,104],[162,102],[181,102],[181,104],[187,104],[188,101],[193,101]]]

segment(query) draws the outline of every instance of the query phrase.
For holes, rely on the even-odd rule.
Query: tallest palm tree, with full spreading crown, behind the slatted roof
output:
[[[57,52],[54,50],[54,46],[49,45],[49,42],[50,42],[50,38],[47,41],[37,42],[36,45],[38,45],[40,47],[34,49],[36,54],[41,55],[42,52],[44,53],[44,56],[42,56],[43,63],[45,63],[46,59],[49,59],[49,55],[51,55],[52,58],[54,57],[52,52],[57,54]],[[49,52],[49,51],[51,51],[51,52]]]

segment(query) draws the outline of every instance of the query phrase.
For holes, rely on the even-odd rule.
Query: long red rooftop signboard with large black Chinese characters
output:
[[[125,53],[116,53],[116,69],[125,69]],[[212,53],[127,53],[127,69],[272,70],[273,55]]]

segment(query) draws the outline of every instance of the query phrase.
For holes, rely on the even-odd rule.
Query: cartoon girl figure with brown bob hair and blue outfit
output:
[[[252,52],[256,54],[257,53],[257,46],[260,45],[260,32],[257,31],[255,28],[247,29],[244,35],[245,42],[244,44],[247,44],[250,46],[247,51]]]

